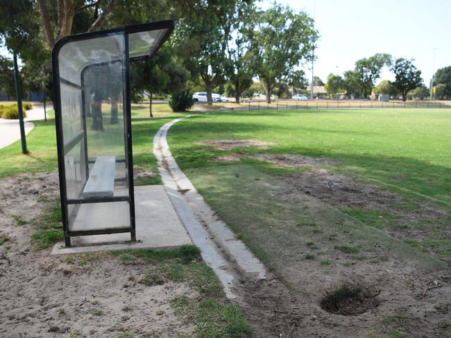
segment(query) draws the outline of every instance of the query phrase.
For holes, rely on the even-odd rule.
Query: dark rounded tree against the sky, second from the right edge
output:
[[[407,100],[407,92],[409,90],[415,89],[420,84],[423,84],[421,71],[416,69],[413,62],[414,59],[406,60],[400,57],[391,66],[391,71],[395,74],[395,81],[392,82],[393,86],[398,88],[403,101]]]

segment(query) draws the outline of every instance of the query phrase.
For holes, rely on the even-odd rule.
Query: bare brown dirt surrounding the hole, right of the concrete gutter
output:
[[[394,258],[377,242],[359,253],[341,252],[334,245],[346,235],[325,238],[341,231],[342,224],[348,226],[346,217],[328,214],[316,197],[299,190],[294,177],[278,185],[258,182],[275,197],[275,203],[305,206],[325,223],[336,222],[324,227],[312,224],[313,233],[300,238],[283,220],[269,231],[255,224],[262,226],[262,235],[255,240],[274,251],[275,267],[273,281],[248,285],[244,294],[242,306],[248,320],[257,323],[258,337],[271,330],[280,337],[451,337],[449,269],[428,269],[424,263],[417,264],[414,256]],[[329,189],[324,181],[321,184]],[[323,299],[337,290],[342,293],[345,285],[363,295],[344,297],[330,312],[322,308]]]

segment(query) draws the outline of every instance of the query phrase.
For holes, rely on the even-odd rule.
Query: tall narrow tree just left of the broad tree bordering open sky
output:
[[[253,84],[255,57],[252,52],[255,26],[253,1],[238,1],[232,18],[232,31],[227,44],[227,75],[234,89],[235,102]]]

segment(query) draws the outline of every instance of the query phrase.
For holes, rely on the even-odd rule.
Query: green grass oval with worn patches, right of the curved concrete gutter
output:
[[[450,116],[449,109],[220,112],[174,125],[169,145],[214,210],[269,266],[282,263],[278,245],[299,243],[306,252],[312,247],[327,251],[323,260],[334,258],[347,246],[356,248],[352,259],[357,260],[365,257],[375,262],[387,255],[408,258],[423,251],[449,263]],[[198,144],[222,139],[272,144],[268,149],[230,150]],[[261,154],[321,157],[329,162],[319,167],[354,177],[357,184],[376,185],[395,198],[386,208],[371,203],[331,207],[309,195],[290,195],[287,177],[312,168],[256,159]],[[235,156],[239,161],[214,161],[219,156]],[[422,208],[441,211],[443,217],[423,215]],[[269,233],[280,236],[281,242],[268,238]],[[423,258],[425,266],[431,264],[429,259],[436,262],[427,254]]]

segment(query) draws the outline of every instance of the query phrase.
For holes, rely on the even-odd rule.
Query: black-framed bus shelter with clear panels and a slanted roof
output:
[[[63,37],[52,51],[62,225],[136,241],[130,60],[152,57],[173,21]]]

